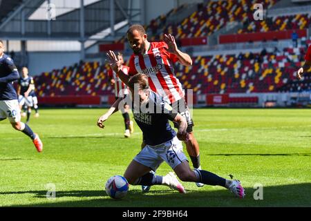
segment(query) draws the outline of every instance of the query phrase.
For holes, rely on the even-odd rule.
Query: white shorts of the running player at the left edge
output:
[[[21,113],[19,111],[19,102],[17,99],[8,101],[0,101],[0,119],[8,119],[11,123],[21,121]]]

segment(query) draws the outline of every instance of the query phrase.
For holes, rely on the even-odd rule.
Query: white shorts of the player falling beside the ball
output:
[[[182,142],[175,136],[173,140],[158,146],[146,145],[134,160],[156,171],[163,161],[175,169],[176,166],[187,161],[187,157],[182,151]]]

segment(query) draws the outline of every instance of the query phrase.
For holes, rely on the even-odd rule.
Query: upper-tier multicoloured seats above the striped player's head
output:
[[[263,8],[271,8],[277,1],[279,0],[264,0],[261,3]],[[144,28],[151,34],[149,36],[150,41],[163,39],[163,35],[169,33],[174,35],[176,40],[182,44],[182,39],[194,38],[196,40],[199,37],[206,38],[232,21],[247,23],[249,19],[253,18],[253,6],[255,3],[257,3],[256,0],[220,0],[209,1],[207,4],[198,3],[198,10],[189,17],[185,17],[182,22],[166,25],[167,17],[178,13],[181,8],[187,7],[187,5],[183,4],[166,15],[160,15],[153,19]],[[115,41],[115,43],[124,42],[125,37]],[[206,44],[206,42],[202,42],[202,44]]]

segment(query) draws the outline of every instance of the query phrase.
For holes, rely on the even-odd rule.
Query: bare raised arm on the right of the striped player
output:
[[[175,38],[173,37],[173,35],[171,35],[171,34],[164,35],[163,41],[165,41],[167,46],[169,46],[167,51],[176,55],[178,57],[178,61],[180,62],[180,64],[182,64],[184,66],[192,66],[191,57],[188,54],[186,54],[185,52],[182,52],[178,49]]]

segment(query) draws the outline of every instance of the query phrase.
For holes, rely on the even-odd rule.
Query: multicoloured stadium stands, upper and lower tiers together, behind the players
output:
[[[264,8],[272,8],[280,0],[263,1]],[[225,52],[225,54],[201,55],[193,58],[193,66],[176,64],[176,76],[185,89],[193,89],[194,94],[208,95],[207,104],[230,103],[257,104],[258,97],[230,97],[232,93],[279,93],[310,90],[310,77],[297,81],[295,71],[303,65],[307,29],[310,26],[310,14],[282,15],[265,17],[263,21],[254,21],[252,6],[255,0],[209,1],[198,3],[197,10],[180,23],[167,23],[167,19],[185,9],[187,4],[153,19],[145,28],[150,41],[162,39],[164,33],[176,37],[180,46],[207,44],[207,37],[227,26],[232,21],[243,24],[243,28],[233,33],[220,35],[220,44],[233,42],[269,41],[290,39],[296,30],[303,41],[296,48],[290,44],[283,49],[274,48],[267,52]],[[251,35],[254,35],[252,39]],[[243,39],[244,37],[244,39]],[[234,40],[236,39],[236,40]],[[100,45],[105,50],[124,50],[125,38],[113,44]],[[108,48],[108,49],[107,49]],[[112,48],[112,49],[111,49]],[[35,77],[39,97],[59,96],[110,96],[113,100],[113,87],[108,79],[109,66],[100,61],[80,61],[79,64],[42,73]],[[214,96],[215,94],[216,96]],[[211,96],[209,96],[211,95]],[[220,97],[217,97],[221,95]],[[228,96],[227,96],[228,95]],[[96,99],[98,102],[98,99]],[[53,102],[52,102],[53,103]],[[83,103],[83,102],[82,102]]]

